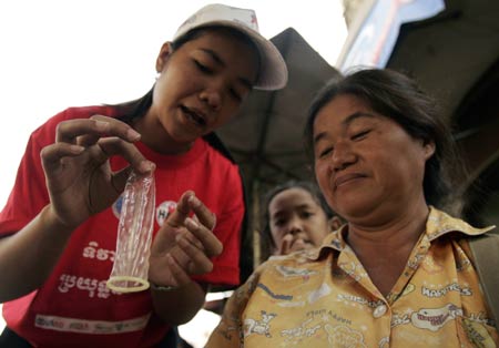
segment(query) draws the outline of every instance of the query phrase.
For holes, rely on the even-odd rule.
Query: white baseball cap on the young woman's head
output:
[[[207,4],[180,25],[173,40],[195,28],[208,25],[234,28],[246,34],[255,43],[261,57],[255,89],[272,91],[279,90],[286,85],[286,63],[274,43],[259,34],[254,10],[240,9],[221,3]]]

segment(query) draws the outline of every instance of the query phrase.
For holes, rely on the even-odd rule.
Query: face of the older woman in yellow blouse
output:
[[[345,219],[383,224],[424,199],[425,163],[435,144],[411,137],[361,99],[335,96],[317,113],[313,136],[320,190]]]

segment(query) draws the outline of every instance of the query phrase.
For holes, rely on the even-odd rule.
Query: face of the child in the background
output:
[[[268,204],[268,216],[278,253],[319,246],[329,233],[326,213],[310,193],[301,187],[276,194]]]

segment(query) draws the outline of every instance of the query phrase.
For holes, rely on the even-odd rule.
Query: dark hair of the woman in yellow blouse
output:
[[[435,154],[425,166],[422,190],[426,202],[459,214],[460,202],[456,194],[464,167],[457,161],[450,129],[435,100],[403,73],[389,69],[358,70],[332,80],[320,90],[310,104],[305,125],[305,146],[310,158],[314,158],[313,132],[317,113],[340,94],[361,99],[373,111],[397,122],[414,139],[435,142]]]

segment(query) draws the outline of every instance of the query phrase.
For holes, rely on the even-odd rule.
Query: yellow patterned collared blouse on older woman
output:
[[[206,347],[496,347],[461,238],[492,228],[431,208],[386,298],[339,231],[317,250],[272,257],[230,298]]]

